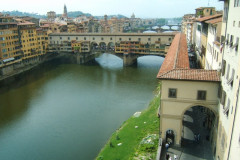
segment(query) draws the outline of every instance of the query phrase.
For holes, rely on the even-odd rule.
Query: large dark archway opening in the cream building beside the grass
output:
[[[208,153],[207,159],[211,159],[216,146],[217,118],[209,106],[195,105],[186,108],[182,116],[182,148],[195,156]]]

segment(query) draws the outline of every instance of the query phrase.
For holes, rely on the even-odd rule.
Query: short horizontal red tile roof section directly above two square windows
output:
[[[204,69],[174,69],[159,75],[157,78],[165,80],[220,81],[219,73],[216,70]]]

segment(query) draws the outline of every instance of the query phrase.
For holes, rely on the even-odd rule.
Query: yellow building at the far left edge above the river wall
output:
[[[0,17],[0,66],[21,61],[17,23],[12,17]]]

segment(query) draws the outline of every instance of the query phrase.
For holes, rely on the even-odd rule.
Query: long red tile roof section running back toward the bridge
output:
[[[172,69],[189,69],[187,41],[184,34],[178,33],[174,37],[168,53],[159,70],[158,76]]]

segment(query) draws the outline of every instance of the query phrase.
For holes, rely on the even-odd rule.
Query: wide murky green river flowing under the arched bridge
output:
[[[163,62],[123,67],[103,54],[96,64],[52,61],[0,88],[1,160],[91,160],[111,134],[148,106]]]

